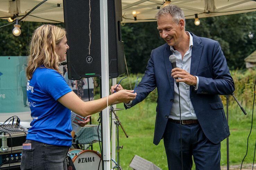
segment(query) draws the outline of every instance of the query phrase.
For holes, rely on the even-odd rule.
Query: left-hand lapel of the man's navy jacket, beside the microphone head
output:
[[[164,64],[165,64],[165,69],[166,69],[166,73],[168,76],[168,80],[171,86],[171,92],[174,95],[174,79],[171,76],[171,70],[172,70],[172,65],[171,62],[169,60],[169,56],[172,55],[172,51],[170,49],[170,46],[167,45],[166,50],[164,50],[163,52],[163,57],[164,57]]]

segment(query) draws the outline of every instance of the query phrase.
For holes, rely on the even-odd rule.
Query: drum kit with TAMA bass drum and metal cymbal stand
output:
[[[111,159],[111,160],[116,164],[116,166],[114,166],[112,169],[122,170],[122,168],[119,164],[119,150],[122,149],[122,147],[119,146],[119,128],[118,128],[119,125],[121,126],[121,128],[127,138],[128,138],[128,135],[126,134],[125,130],[123,129],[123,126],[122,126],[118,116],[115,113],[115,111],[118,111],[118,110],[122,110],[122,109],[120,109],[120,108],[115,108],[115,109],[112,108],[111,109],[111,111],[114,113],[114,115],[116,117],[116,122],[114,122],[114,123],[117,126],[117,162],[113,159]],[[91,138],[89,138],[90,141],[83,139],[83,142],[85,142],[85,143],[82,143],[82,144],[89,144],[89,146],[86,148],[86,150],[83,150],[85,147],[83,147],[80,144],[80,141],[82,141],[82,140],[74,139],[74,141],[76,141],[76,142],[74,142],[72,144],[73,147],[71,147],[71,149],[68,151],[68,154],[67,154],[67,160],[72,161],[71,164],[69,163],[69,161],[67,161],[68,170],[101,170],[102,169],[102,161],[101,161],[100,152],[94,151],[94,150],[87,150],[87,149],[89,149],[90,146],[92,146],[92,143],[99,142],[99,140],[94,139],[97,134],[93,134],[93,133],[97,133],[97,131],[95,132],[95,130],[93,130],[93,129],[96,129],[96,128],[97,128],[97,125],[86,125],[84,127],[84,129],[82,129],[83,135],[81,135],[81,130],[80,130],[80,133],[78,132],[79,136],[77,136],[77,137],[80,139],[83,139],[84,136],[91,136]],[[88,133],[90,135],[88,135]],[[98,139],[98,137],[97,137],[97,139]],[[101,137],[100,137],[100,139],[101,139]],[[77,144],[78,143],[77,141],[79,141],[79,144]],[[74,149],[72,149],[72,148],[74,148]],[[78,148],[80,148],[80,149],[78,149]]]

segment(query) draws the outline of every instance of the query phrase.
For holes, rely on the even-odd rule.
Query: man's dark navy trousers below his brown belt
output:
[[[181,125],[183,169],[220,170],[221,144],[204,135],[200,124]],[[180,124],[168,121],[163,135],[169,170],[181,170]]]

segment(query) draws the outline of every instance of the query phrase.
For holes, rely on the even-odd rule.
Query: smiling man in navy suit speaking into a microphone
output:
[[[153,143],[157,145],[163,138],[169,169],[191,169],[193,155],[196,169],[220,170],[220,142],[230,132],[219,95],[234,91],[221,47],[217,41],[185,31],[184,13],[177,6],[162,8],[156,19],[167,44],[152,50],[136,99],[125,107],[141,102],[157,87]],[[178,68],[172,68],[170,55],[177,57]],[[179,82],[180,104],[174,78]],[[111,87],[112,92],[116,86]]]

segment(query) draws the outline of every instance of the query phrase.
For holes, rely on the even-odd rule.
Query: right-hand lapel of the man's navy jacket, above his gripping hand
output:
[[[193,36],[190,74],[193,76],[196,76],[204,46],[200,44],[202,41],[199,39],[199,37],[195,36],[191,32],[190,34]],[[192,88],[190,88],[190,94],[191,94],[191,89]]]

